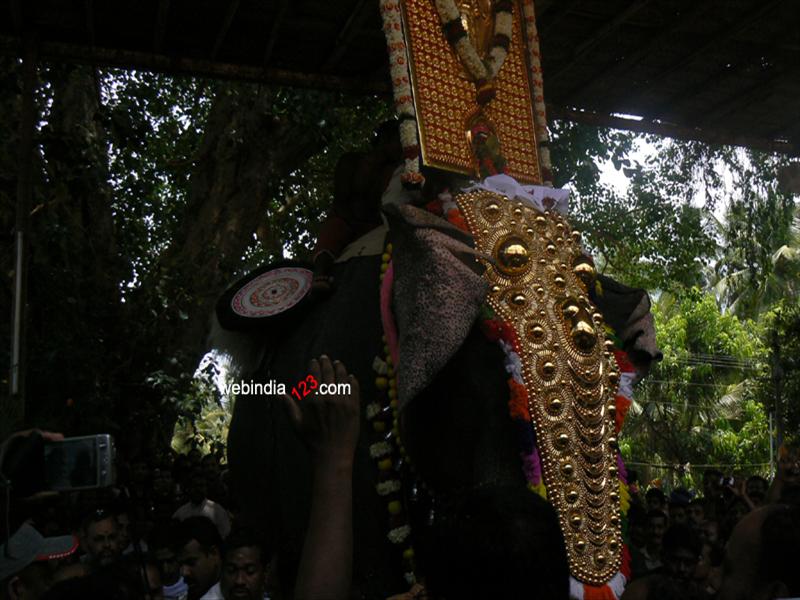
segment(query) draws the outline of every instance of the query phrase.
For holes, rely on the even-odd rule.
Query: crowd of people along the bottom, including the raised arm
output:
[[[351,597],[358,385],[341,363],[325,357],[312,361],[311,370],[320,381],[349,381],[353,388],[350,394],[309,398],[303,405],[284,399],[315,458],[308,531],[295,581],[278,580],[275,549],[261,532],[240,522],[224,449],[217,447],[204,456],[198,450],[141,455],[119,465],[114,486],[40,492],[24,500],[9,491],[14,479],[4,477],[0,600]],[[37,435],[42,434],[16,438]],[[14,462],[9,459],[13,445],[7,443],[0,456],[4,476],[6,463]],[[796,455],[781,456],[772,482],[759,476],[732,481],[708,470],[702,490],[677,488],[667,495],[658,487],[640,489],[632,473],[629,479],[626,552],[632,577],[623,600],[800,595]],[[513,492],[478,494],[470,502],[455,533],[431,553],[427,575],[393,598],[567,597],[566,554],[546,502]],[[520,517],[523,513],[530,518]],[[488,514],[496,517],[475,517]],[[526,582],[525,588],[517,589],[517,581]]]

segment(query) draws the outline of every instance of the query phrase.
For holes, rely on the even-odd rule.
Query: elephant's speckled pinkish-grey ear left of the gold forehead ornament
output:
[[[461,347],[488,291],[472,236],[428,211],[384,208],[394,264],[400,410]]]

